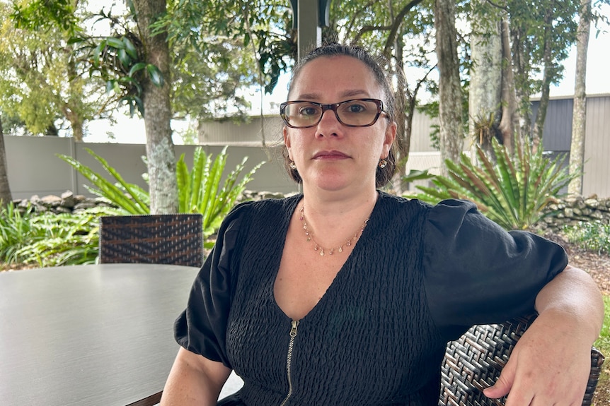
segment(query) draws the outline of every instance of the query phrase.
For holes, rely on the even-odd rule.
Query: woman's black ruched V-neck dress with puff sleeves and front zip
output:
[[[175,323],[180,345],[243,378],[227,405],[280,405],[289,393],[292,321],[273,285],[300,198],[235,208]],[[472,203],[380,192],[343,268],[299,321],[287,405],[436,405],[447,341],[530,311],[566,264],[556,244],[504,232]]]

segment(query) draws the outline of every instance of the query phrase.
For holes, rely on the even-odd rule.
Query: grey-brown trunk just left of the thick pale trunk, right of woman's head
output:
[[[439,68],[439,144],[441,174],[448,175],[445,160],[457,162],[464,145],[461,131],[461,83],[457,56],[455,4],[435,1],[436,51]]]

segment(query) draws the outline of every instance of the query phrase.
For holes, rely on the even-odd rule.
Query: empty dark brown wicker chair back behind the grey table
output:
[[[200,214],[100,217],[100,263],[167,263],[200,267]]]

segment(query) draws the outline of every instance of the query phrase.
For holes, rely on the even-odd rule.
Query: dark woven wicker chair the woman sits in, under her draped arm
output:
[[[506,365],[514,344],[535,315],[500,325],[473,326],[459,340],[449,342],[442,364],[439,406],[503,406],[505,398],[489,399],[483,389],[493,385]],[[604,356],[591,350],[591,373],[582,405],[591,405]]]

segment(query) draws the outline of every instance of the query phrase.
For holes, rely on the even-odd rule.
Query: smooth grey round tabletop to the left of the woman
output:
[[[197,268],[103,264],[0,273],[0,405],[146,405],[178,344]]]

